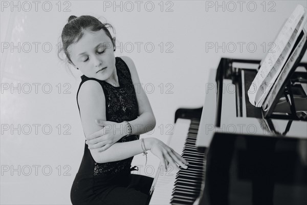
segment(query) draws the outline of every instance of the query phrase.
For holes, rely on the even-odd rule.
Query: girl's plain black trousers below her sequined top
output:
[[[106,180],[77,175],[71,190],[71,201],[74,205],[145,205],[152,181],[152,177],[130,173]]]

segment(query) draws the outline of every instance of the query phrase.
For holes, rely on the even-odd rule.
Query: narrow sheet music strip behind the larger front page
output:
[[[278,79],[276,80],[276,83],[272,87],[270,93],[268,94],[268,96],[265,100],[264,105],[262,106],[262,109],[264,111],[268,110],[269,103],[272,102],[276,98],[278,91],[281,89],[281,86],[282,86],[284,80],[288,76],[291,68],[293,67],[293,65],[295,63],[295,60],[297,59],[298,55],[300,54],[300,52],[302,50],[304,43],[306,42],[306,31],[305,31],[305,29],[303,29],[302,32],[304,33],[304,35],[300,39],[298,46],[295,48],[295,50],[291,54],[291,57],[288,59],[286,66],[284,66],[281,73],[279,74]]]

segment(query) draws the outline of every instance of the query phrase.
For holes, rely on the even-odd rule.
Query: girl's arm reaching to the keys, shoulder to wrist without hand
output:
[[[89,136],[101,129],[94,122],[95,119],[106,119],[105,98],[101,85],[95,80],[85,81],[79,90],[78,103],[80,108],[81,122],[85,136]],[[151,147],[152,138],[144,139],[146,150]],[[143,152],[141,140],[116,143],[107,150],[99,152],[91,149],[94,160],[98,163],[118,161],[135,156]]]

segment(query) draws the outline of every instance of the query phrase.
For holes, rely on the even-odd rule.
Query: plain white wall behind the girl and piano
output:
[[[58,37],[70,15],[103,16],[115,27],[116,56],[128,55],[135,61],[157,120],[155,131],[141,137],[166,142],[170,136],[167,125],[173,126],[178,108],[203,106],[208,71],[217,68],[221,57],[264,58],[296,5],[306,7],[306,1],[243,1],[241,8],[238,1],[142,1],[139,9],[135,1],[50,1],[52,8],[47,12],[48,4],[42,7],[40,2],[36,11],[35,4],[28,3],[13,2],[17,7],[11,1],[1,3],[1,204],[71,204],[70,189],[84,148],[76,103],[81,73],[74,71],[74,78],[56,55]],[[152,4],[155,7],[149,12]],[[19,42],[21,50],[11,51]],[[35,42],[40,43],[37,51]],[[121,42],[126,47],[120,47]],[[136,42],[143,43],[140,50]],[[208,42],[225,43],[225,50],[206,51]],[[244,43],[242,50],[240,42]],[[48,45],[43,50],[43,43],[52,45],[50,52]],[[149,52],[146,43],[155,49]],[[249,43],[257,48],[248,48]],[[39,84],[37,93],[35,83]],[[52,91],[45,94],[49,84]],[[150,86],[145,87],[149,84],[155,88],[152,93]],[[11,90],[18,85],[20,93]],[[65,89],[70,93],[64,93]],[[168,89],[172,94],[167,94]],[[39,124],[37,133],[35,124]],[[52,128],[51,134],[42,132],[44,125]],[[143,167],[140,174],[153,177],[159,160],[151,153],[148,160],[147,172]],[[144,156],[135,156],[132,165],[144,166]],[[155,168],[152,173],[150,166]]]

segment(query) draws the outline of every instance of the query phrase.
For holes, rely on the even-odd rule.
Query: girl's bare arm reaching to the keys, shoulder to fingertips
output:
[[[85,81],[79,90],[78,103],[80,108],[81,122],[85,136],[101,129],[94,122],[95,119],[106,119],[105,115],[105,98],[101,85],[95,80]],[[178,165],[187,168],[187,161],[182,158],[177,152],[165,145],[161,140],[156,138],[144,139],[146,151],[150,150],[156,155],[166,170],[166,166],[170,163],[174,169],[179,170]],[[93,159],[98,163],[118,161],[135,156],[143,152],[141,140],[128,142],[118,142],[103,152],[98,149],[90,150]]]

